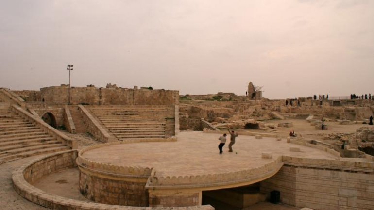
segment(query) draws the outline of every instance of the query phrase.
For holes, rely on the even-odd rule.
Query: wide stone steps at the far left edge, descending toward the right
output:
[[[0,164],[69,149],[70,147],[9,108],[0,108]]]

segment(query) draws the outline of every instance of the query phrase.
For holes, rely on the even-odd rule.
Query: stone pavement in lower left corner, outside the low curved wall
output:
[[[47,208],[29,202],[13,190],[12,172],[21,165],[41,157],[33,156],[0,165],[0,209],[1,210],[48,210]]]

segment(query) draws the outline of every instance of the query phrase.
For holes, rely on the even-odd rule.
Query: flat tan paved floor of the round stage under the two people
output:
[[[85,159],[118,166],[154,167],[158,177],[191,176],[227,173],[251,169],[272,162],[282,155],[339,159],[322,150],[287,143],[286,139],[255,136],[238,136],[228,152],[229,136],[219,154],[220,134],[199,131],[180,132],[176,142],[148,142],[108,145],[83,153]],[[291,152],[290,147],[300,147],[300,152]],[[273,159],[262,159],[262,152],[272,152]]]

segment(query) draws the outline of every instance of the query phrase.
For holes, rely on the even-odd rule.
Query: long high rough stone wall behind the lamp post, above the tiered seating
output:
[[[68,103],[68,86],[40,89],[42,101]],[[179,91],[129,88],[71,87],[70,103],[86,105],[175,105]]]

